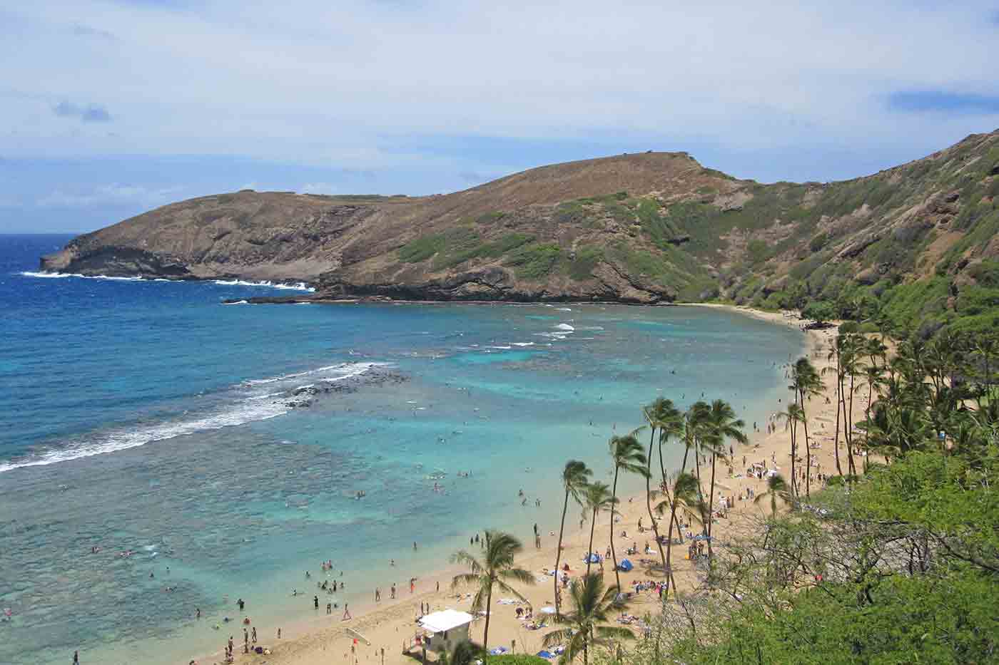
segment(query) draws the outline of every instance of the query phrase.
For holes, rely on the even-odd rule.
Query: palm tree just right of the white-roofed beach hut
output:
[[[455,575],[451,581],[454,589],[462,584],[476,584],[478,589],[472,598],[472,612],[477,613],[486,607],[486,628],[483,632],[483,665],[486,664],[486,649],[490,643],[490,617],[493,612],[493,587],[499,587],[500,591],[516,596],[520,600],[524,597],[519,591],[511,587],[508,582],[515,581],[521,584],[533,584],[534,575],[529,570],[517,568],[513,564],[513,557],[523,549],[523,544],[515,536],[503,531],[486,531],[486,556],[480,561],[469,552],[460,550],[452,554],[452,563],[464,563],[469,566],[470,572]]]

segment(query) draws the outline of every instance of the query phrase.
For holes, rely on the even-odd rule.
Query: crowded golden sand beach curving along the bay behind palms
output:
[[[731,308],[728,306],[709,306],[737,311],[747,316],[763,319],[775,324],[800,327],[803,323],[796,316],[789,314],[765,313],[753,311],[745,308]],[[830,328],[825,331],[808,331],[807,348],[808,354],[816,368],[821,371],[829,362],[826,354],[829,349],[830,340],[835,336],[836,331]],[[813,459],[821,466],[820,469],[826,474],[835,474],[836,467],[833,451],[833,432],[835,426],[835,372],[828,371],[822,376],[824,390],[820,395],[813,396],[807,402],[808,430],[810,440],[821,444],[821,448],[813,449]],[[788,395],[790,393],[788,392]],[[710,395],[707,395],[710,397]],[[826,398],[828,402],[826,403]],[[786,400],[785,400],[786,402]],[[857,393],[854,399],[854,421],[862,419],[863,406],[866,404],[866,388]],[[769,413],[775,413],[786,407],[786,403],[775,403],[769,409]],[[767,435],[766,423],[757,423],[760,432],[752,432],[752,423],[746,423],[747,434],[750,435],[750,442],[747,445],[735,445],[733,459],[733,473],[739,474],[744,471],[742,456],[745,455],[746,463],[763,461],[768,467],[772,467],[771,458],[776,460],[776,465],[785,479],[790,480],[790,434],[785,431],[783,424],[778,424],[776,431]],[[647,435],[647,432],[646,434]],[[641,439],[641,437],[639,437]],[[842,437],[840,437],[842,439]],[[671,445],[680,445],[679,442],[672,442]],[[799,454],[804,457],[803,443],[799,442]],[[840,442],[840,455],[845,468],[845,445]],[[555,463],[552,461],[552,463]],[[560,462],[559,462],[560,463]],[[858,461],[858,463],[860,463]],[[692,464],[692,462],[691,462]],[[653,461],[653,468],[655,462]],[[653,473],[653,487],[656,484]],[[705,476],[706,477],[706,476]],[[818,489],[821,483],[812,480],[812,489]],[[745,489],[752,488],[757,495],[766,491],[766,480],[755,478],[729,477],[727,467],[724,464],[718,465],[717,479],[715,482],[715,497],[738,496],[742,490],[743,497]],[[512,490],[511,490],[512,491]],[[541,548],[536,549],[534,543],[524,542],[524,551],[518,557],[517,564],[535,573],[537,584],[535,586],[516,587],[527,598],[534,610],[534,618],[540,619],[544,615],[539,612],[540,608],[553,604],[553,580],[551,576],[542,573],[542,569],[552,569],[555,563],[555,547],[557,544],[558,522],[561,516],[561,506],[549,507],[539,514],[538,530],[541,534]],[[585,572],[583,555],[587,549],[586,542],[589,535],[588,522],[580,528],[580,509],[571,505],[565,519],[565,537],[563,539],[562,562],[567,562],[570,567],[572,577]],[[719,519],[712,527],[716,547],[723,547],[726,538],[732,537],[743,529],[752,528],[757,520],[769,512],[769,499],[761,499],[759,503],[743,498],[741,502],[736,501],[735,507],[728,511],[726,518]],[[617,560],[624,558],[624,551],[630,545],[634,545],[639,553],[627,556],[635,567],[627,573],[620,573],[621,586],[624,590],[631,590],[631,585],[639,580],[657,581],[662,579],[658,570],[660,563],[658,551],[655,548],[651,531],[647,528],[649,517],[646,511],[645,495],[640,494],[632,497],[624,497],[621,500],[616,517],[618,521],[614,525],[614,546],[617,553]],[[646,529],[644,533],[638,533],[637,522],[642,518],[642,523]],[[470,525],[471,526],[471,525]],[[668,515],[660,519],[660,533],[665,534],[668,526]],[[609,515],[601,515],[596,523],[596,530],[593,540],[593,549],[603,553],[609,546]],[[697,526],[692,527],[697,531]],[[471,530],[471,529],[470,529]],[[627,532],[627,538],[619,537],[622,531]],[[550,535],[554,532],[555,535]],[[651,546],[652,554],[643,554],[645,544]],[[473,554],[481,551],[479,546],[469,548]],[[672,552],[672,566],[678,588],[691,590],[698,583],[698,574],[694,570],[692,562],[685,560],[687,545],[674,545]],[[270,654],[245,655],[243,650],[242,626],[233,626],[228,629],[232,632],[236,641],[237,658],[236,662],[241,664],[268,663],[269,665],[328,665],[330,663],[386,663],[395,665],[397,663],[412,663],[414,658],[419,659],[420,651],[413,649],[412,655],[404,654],[404,645],[412,644],[415,635],[420,632],[416,619],[419,615],[421,603],[429,603],[432,611],[452,608],[468,611],[471,605],[471,598],[466,593],[457,597],[456,592],[451,589],[451,579],[456,572],[461,572],[454,566],[448,566],[447,562],[442,562],[442,568],[432,574],[421,577],[416,583],[415,593],[410,592],[408,584],[403,584],[399,589],[398,600],[383,600],[375,605],[372,603],[367,607],[352,607],[354,618],[349,621],[342,620],[343,608],[335,609],[332,615],[326,614],[326,600],[321,598],[320,610],[317,612],[315,620],[303,622],[297,625],[283,626],[282,639],[276,639],[277,626],[257,626],[260,639],[258,644],[271,650]],[[648,564],[654,564],[653,569]],[[604,581],[607,585],[614,583],[614,573],[609,559],[604,566]],[[594,570],[599,570],[593,564]],[[372,592],[375,586],[381,586],[383,597],[389,596],[388,584],[380,583],[381,580],[372,580]],[[440,583],[440,591],[437,591]],[[461,589],[469,592],[473,589]],[[567,594],[563,593],[563,598]],[[672,592],[670,592],[670,597]],[[520,621],[515,616],[515,606],[499,604],[497,601],[504,598],[501,592],[494,593],[494,604],[492,607],[493,616],[490,623],[490,648],[503,646],[507,649],[514,649],[516,653],[536,653],[541,649],[541,639],[544,633],[550,630],[550,621],[547,628],[540,630],[527,630],[525,625],[529,622]],[[658,598],[654,591],[643,591],[633,598],[628,612],[641,616],[647,612],[656,611],[659,605]],[[471,637],[482,642],[485,619],[479,619],[472,625]],[[356,631],[351,633],[348,629]],[[220,647],[228,637],[220,634]],[[357,634],[363,635],[366,639],[358,639],[355,645]],[[515,647],[513,644],[515,642]],[[355,653],[352,653],[352,647]],[[383,650],[384,649],[384,657]],[[434,658],[432,655],[431,658]],[[223,662],[223,654],[220,651],[214,655],[199,658],[201,665],[205,663]]]

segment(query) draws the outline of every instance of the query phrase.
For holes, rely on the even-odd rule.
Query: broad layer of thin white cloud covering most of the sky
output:
[[[445,159],[384,149],[412,135],[936,149],[999,125],[885,103],[905,89],[999,94],[994,5],[980,1],[51,0],[7,11],[20,20],[16,32],[0,27],[5,87],[23,94],[0,105],[0,123],[18,128],[0,149],[23,156],[375,169]],[[119,39],[67,42],[82,25]],[[40,116],[62,96],[100,99],[118,136],[68,134]]]

